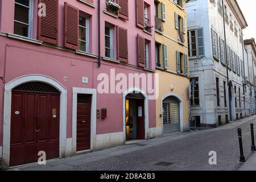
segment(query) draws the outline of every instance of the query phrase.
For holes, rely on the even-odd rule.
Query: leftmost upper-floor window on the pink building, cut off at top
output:
[[[14,34],[32,38],[32,0],[15,0]]]

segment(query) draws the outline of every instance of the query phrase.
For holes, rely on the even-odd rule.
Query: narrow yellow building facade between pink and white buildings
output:
[[[156,125],[163,135],[189,127],[189,64],[185,0],[155,1]]]

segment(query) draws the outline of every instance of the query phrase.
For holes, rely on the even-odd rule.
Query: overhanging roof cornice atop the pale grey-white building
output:
[[[242,29],[246,28],[248,26],[245,16],[242,13],[242,10],[240,9],[240,6],[238,5],[237,0],[226,0],[228,3],[228,6],[232,10],[233,14],[236,16],[238,23],[242,27]]]

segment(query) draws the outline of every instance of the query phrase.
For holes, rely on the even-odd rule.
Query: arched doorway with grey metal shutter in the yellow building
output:
[[[163,135],[181,131],[180,101],[174,96],[164,98],[162,102]]]

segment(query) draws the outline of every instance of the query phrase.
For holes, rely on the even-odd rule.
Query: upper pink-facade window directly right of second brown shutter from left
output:
[[[89,19],[79,16],[79,50],[89,52]]]

